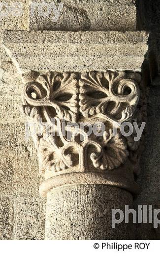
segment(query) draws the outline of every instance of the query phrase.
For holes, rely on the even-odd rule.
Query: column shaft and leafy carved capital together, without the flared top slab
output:
[[[128,238],[130,225],[116,232],[111,212],[131,206],[131,193],[139,191],[139,141],[135,132],[123,137],[119,124],[141,126],[140,82],[133,72],[48,72],[25,85],[23,112],[38,127],[32,137],[45,177],[46,239]],[[89,134],[99,123],[105,131]]]

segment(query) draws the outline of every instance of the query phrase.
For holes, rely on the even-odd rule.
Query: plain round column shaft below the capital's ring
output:
[[[47,195],[46,240],[134,239],[124,222],[112,228],[112,209],[132,207],[132,195],[105,185],[74,185]]]

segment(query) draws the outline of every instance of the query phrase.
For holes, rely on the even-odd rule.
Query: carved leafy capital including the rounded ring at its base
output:
[[[42,195],[73,183],[109,184],[138,192],[134,175],[139,172],[143,135],[134,141],[134,130],[124,137],[120,126],[137,122],[140,127],[146,121],[146,98],[141,93],[144,89],[139,73],[40,75],[32,71],[24,80],[23,113],[36,126],[32,138],[40,173],[46,179],[40,187]],[[99,136],[97,131],[88,135],[89,129],[94,125],[98,129],[100,123],[105,126],[103,134]]]

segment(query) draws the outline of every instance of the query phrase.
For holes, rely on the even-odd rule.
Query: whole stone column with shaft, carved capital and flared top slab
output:
[[[134,238],[131,223],[112,228],[111,213],[132,208],[139,192],[134,177],[143,136],[135,141],[135,129],[124,136],[120,126],[146,121],[147,38],[145,32],[4,33],[3,47],[22,75],[22,112],[45,179],[45,239]]]

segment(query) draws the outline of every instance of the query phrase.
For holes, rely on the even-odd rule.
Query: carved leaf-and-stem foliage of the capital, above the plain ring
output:
[[[138,73],[92,71],[81,75],[48,72],[28,82],[23,91],[23,113],[36,123],[37,130],[39,118],[48,125],[54,118],[54,129],[59,131],[59,135],[48,135],[44,127],[41,136],[33,136],[40,172],[106,172],[118,168],[129,157],[133,160],[135,154],[130,152],[138,150],[139,142],[131,136],[124,138],[119,129],[114,135],[112,127],[132,122],[137,116],[140,81]],[[88,135],[85,128],[80,128],[81,120],[94,125],[95,119],[105,125],[102,136]],[[78,123],[79,128],[71,128],[70,139],[62,132],[63,120],[65,125]]]

